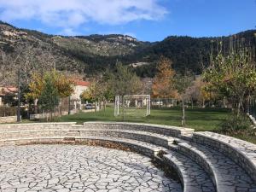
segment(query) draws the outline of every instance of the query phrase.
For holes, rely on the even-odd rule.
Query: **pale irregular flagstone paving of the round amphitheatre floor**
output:
[[[148,157],[110,148],[29,145],[0,148],[0,191],[182,191]]]

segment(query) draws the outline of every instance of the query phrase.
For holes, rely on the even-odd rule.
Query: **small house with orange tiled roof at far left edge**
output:
[[[17,92],[18,89],[14,86],[0,86],[0,106],[3,106],[3,100],[15,101]]]

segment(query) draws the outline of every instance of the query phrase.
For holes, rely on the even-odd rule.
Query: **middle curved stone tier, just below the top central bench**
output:
[[[131,130],[117,130],[117,129],[79,129],[79,130],[70,130],[79,131],[79,135],[90,136],[90,137],[119,137],[138,140],[146,143],[153,143],[155,145],[160,145],[162,147],[168,148],[170,144],[173,143],[173,137],[166,137],[165,135],[160,135],[157,133],[147,132],[147,131],[131,131]]]

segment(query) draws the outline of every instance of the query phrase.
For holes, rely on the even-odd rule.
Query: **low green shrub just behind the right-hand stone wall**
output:
[[[251,122],[246,115],[232,114],[219,125],[219,130],[224,133],[243,133],[250,127]]]

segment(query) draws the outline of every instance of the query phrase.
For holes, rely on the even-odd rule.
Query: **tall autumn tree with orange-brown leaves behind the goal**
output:
[[[157,65],[157,73],[152,85],[154,98],[175,98],[177,90],[174,88],[173,79],[175,72],[172,69],[172,61],[161,56]]]

